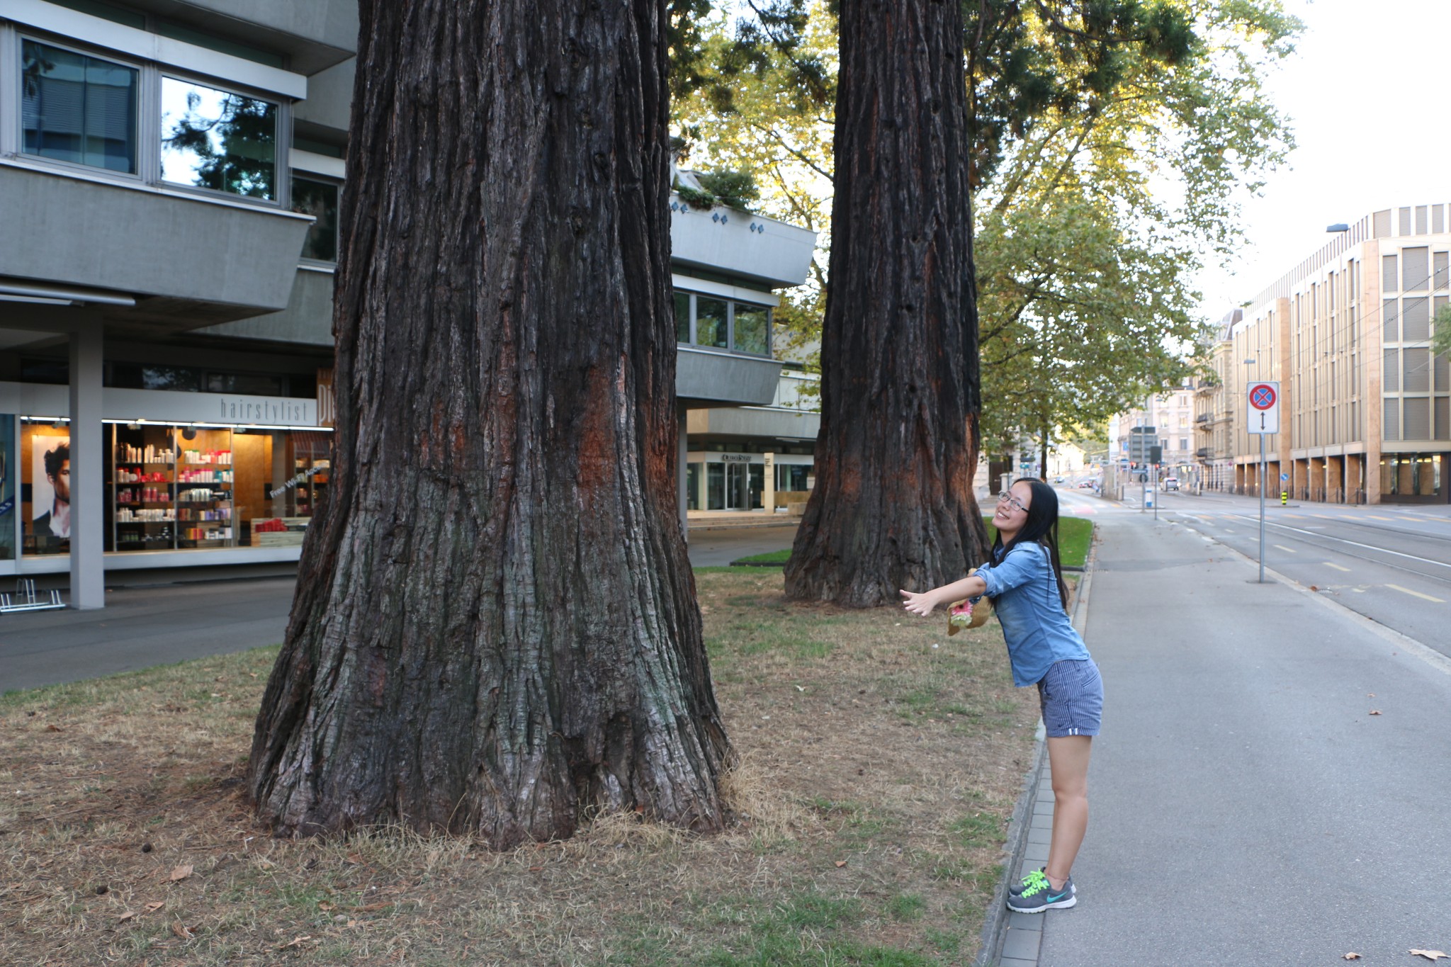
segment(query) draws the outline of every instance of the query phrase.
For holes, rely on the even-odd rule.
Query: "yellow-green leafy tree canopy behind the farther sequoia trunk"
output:
[[[675,126],[701,159],[756,173],[763,213],[820,232],[836,22],[820,0],[773,10],[695,23],[702,54]],[[1291,146],[1264,77],[1300,23],[1278,0],[965,13],[982,432],[1007,447],[1101,422],[1190,370],[1193,275],[1233,249],[1238,199]],[[813,345],[823,264],[779,313],[788,344]]]

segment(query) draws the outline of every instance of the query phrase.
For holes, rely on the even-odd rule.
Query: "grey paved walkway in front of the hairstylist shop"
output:
[[[699,531],[691,563],[730,564],[791,547],[794,535],[794,526]],[[100,610],[0,615],[0,692],[274,645],[287,629],[295,584],[268,577],[126,586],[109,590]]]

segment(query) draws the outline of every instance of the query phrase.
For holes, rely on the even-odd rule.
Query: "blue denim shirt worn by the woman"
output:
[[[997,564],[984,564],[992,610],[1003,625],[1013,684],[1037,684],[1055,661],[1088,658],[1082,636],[1064,613],[1048,548],[1036,541],[1019,544]]]

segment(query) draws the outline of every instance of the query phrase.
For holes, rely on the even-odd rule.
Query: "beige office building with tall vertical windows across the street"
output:
[[[1451,210],[1376,212],[1254,299],[1212,346],[1219,399],[1200,402],[1206,484],[1259,493],[1248,384],[1280,383],[1267,491],[1332,503],[1445,503],[1451,371],[1432,358],[1435,313],[1451,300]],[[1214,431],[1228,420],[1222,454]],[[1206,452],[1207,451],[1207,452]],[[1232,478],[1228,467],[1232,465]]]

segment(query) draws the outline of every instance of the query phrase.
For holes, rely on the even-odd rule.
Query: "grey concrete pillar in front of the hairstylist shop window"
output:
[[[71,607],[106,606],[102,322],[68,333],[71,349]]]

